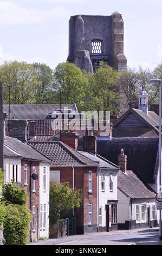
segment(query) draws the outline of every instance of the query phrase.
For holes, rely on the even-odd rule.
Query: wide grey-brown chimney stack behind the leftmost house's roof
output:
[[[27,121],[12,119],[10,120],[9,137],[17,138],[23,143],[27,141]]]

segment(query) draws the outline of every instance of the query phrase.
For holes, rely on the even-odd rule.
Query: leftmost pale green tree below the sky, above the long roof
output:
[[[4,103],[25,104],[34,102],[34,91],[38,86],[37,72],[26,62],[4,62],[0,66],[4,84]]]

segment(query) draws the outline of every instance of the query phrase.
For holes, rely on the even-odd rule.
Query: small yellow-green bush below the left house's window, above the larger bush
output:
[[[12,204],[23,205],[27,203],[27,193],[24,188],[18,187],[14,181],[3,186],[3,200]]]

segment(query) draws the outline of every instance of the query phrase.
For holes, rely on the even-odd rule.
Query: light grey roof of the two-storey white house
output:
[[[85,151],[79,151],[79,153],[88,157],[92,161],[99,162],[100,163],[100,168],[108,168],[108,169],[116,170],[116,171],[119,170],[119,167],[116,166],[116,164],[114,164],[112,162],[109,162],[107,159],[104,159],[103,157],[101,157],[98,154],[93,155],[93,154],[90,154],[90,153],[85,152]]]

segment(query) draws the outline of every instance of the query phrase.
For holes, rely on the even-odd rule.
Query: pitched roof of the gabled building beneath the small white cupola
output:
[[[144,123],[152,127],[157,133],[159,132],[158,126],[159,126],[159,116],[153,112],[153,111],[148,111],[148,115],[140,110],[140,109],[135,109],[135,108],[129,108],[128,111],[123,114],[115,123],[113,124],[113,127],[117,126],[122,120],[124,120],[130,113],[135,114],[138,118],[140,118]]]

